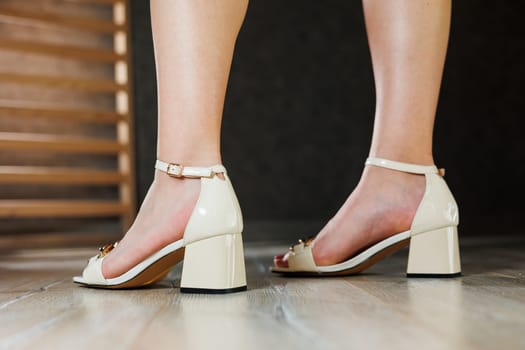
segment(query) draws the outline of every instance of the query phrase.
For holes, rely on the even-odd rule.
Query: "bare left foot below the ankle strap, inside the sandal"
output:
[[[181,239],[199,192],[200,181],[172,178],[157,171],[135,222],[104,259],[104,277],[120,276],[159,249]]]

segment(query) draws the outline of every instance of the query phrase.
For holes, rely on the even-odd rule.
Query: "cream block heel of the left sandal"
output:
[[[186,246],[183,293],[225,294],[246,290],[242,235],[228,234]]]

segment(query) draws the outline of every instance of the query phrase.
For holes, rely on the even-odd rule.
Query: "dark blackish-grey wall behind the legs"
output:
[[[465,235],[518,234],[524,213],[525,6],[490,5],[453,3],[435,130],[436,162],[447,168]],[[156,132],[148,3],[133,1],[132,16],[142,198]],[[359,179],[374,98],[360,2],[252,0],[223,124],[224,162],[246,221],[333,215]]]

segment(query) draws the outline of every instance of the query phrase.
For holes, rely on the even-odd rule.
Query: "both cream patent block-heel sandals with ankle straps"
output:
[[[410,229],[377,242],[346,261],[329,266],[315,263],[311,240],[299,240],[287,253],[288,266],[274,266],[271,270],[284,275],[352,275],[410,245],[408,277],[460,275],[458,206],[443,180],[443,170],[433,165],[415,165],[375,157],[368,158],[365,164],[425,176],[425,194]],[[184,260],[181,292],[217,294],[246,290],[242,215],[224,166],[185,167],[157,160],[155,168],[172,177],[201,181],[199,199],[183,238],[168,244],[122,275],[108,279],[102,274],[102,262],[117,243],[106,245],[100,248],[98,255],[89,259],[82,276],[74,277],[73,281],[95,288],[137,288],[163,279]]]

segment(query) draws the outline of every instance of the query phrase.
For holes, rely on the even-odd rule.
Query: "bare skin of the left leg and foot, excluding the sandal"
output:
[[[247,6],[247,0],[151,1],[158,159],[186,166],[221,164],[226,85]],[[103,275],[117,277],[182,238],[199,191],[199,180],[156,171],[135,222],[104,259]]]

